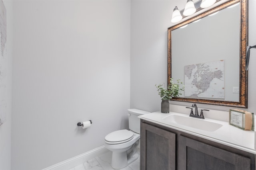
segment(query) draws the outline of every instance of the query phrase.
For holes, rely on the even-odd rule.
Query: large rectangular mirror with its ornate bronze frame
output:
[[[185,85],[171,100],[247,108],[247,25],[247,0],[230,0],[169,27],[168,82]]]

